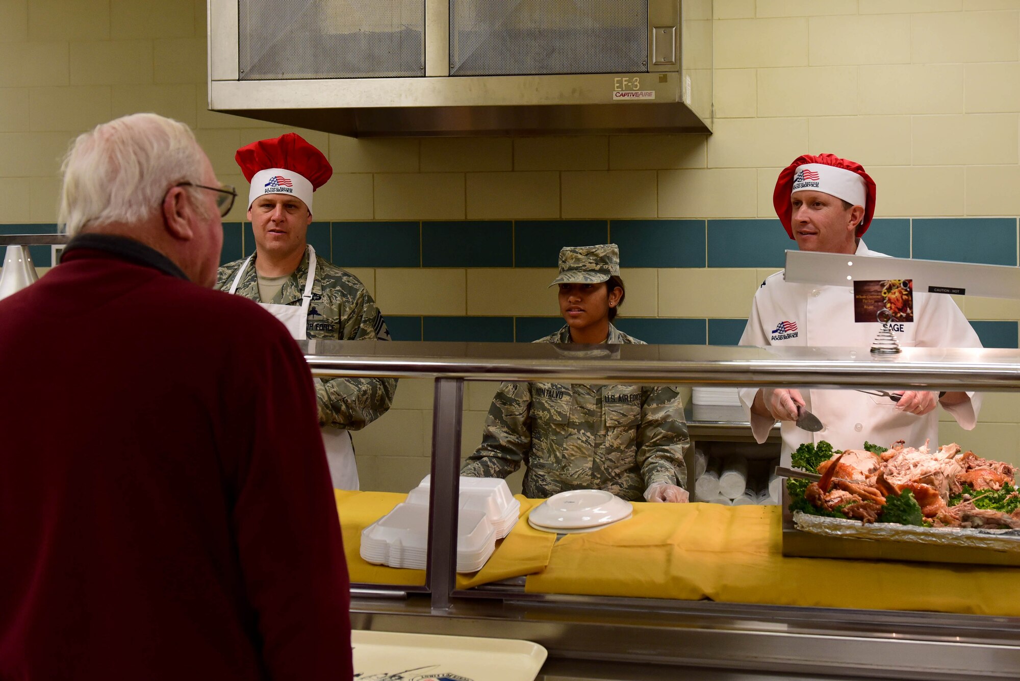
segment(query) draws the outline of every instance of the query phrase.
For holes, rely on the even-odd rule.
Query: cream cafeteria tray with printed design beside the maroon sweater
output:
[[[359,679],[533,681],[546,648],[531,641],[473,636],[351,632]]]

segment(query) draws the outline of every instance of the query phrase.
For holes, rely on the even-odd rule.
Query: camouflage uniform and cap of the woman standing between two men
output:
[[[612,245],[609,245],[612,246]],[[561,281],[605,281],[618,262],[616,247],[560,254]],[[618,265],[615,267],[619,272]],[[592,276],[601,270],[601,279]],[[588,278],[584,278],[588,277]],[[610,324],[609,344],[644,342]],[[570,343],[570,328],[536,343]],[[568,489],[599,488],[644,501],[655,482],[686,484],[690,447],[683,405],[672,385],[503,383],[486,418],[481,444],[461,475],[505,478],[521,462],[525,496],[545,499]]]

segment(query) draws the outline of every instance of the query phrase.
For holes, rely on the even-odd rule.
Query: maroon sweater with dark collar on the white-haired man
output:
[[[351,678],[297,345],[137,242],[75,241],[0,301],[0,679]]]

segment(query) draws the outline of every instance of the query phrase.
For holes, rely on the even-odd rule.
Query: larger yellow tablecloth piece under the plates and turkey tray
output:
[[[775,506],[634,504],[558,541],[526,590],[1020,616],[1016,568],[784,558]]]

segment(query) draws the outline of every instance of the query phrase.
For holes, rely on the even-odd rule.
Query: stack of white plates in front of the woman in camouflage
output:
[[[626,520],[633,507],[603,489],[572,489],[550,496],[531,510],[527,523],[537,530],[570,534],[594,532]]]

